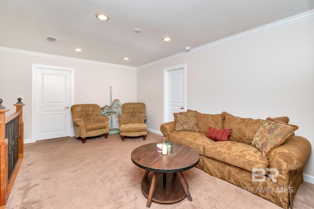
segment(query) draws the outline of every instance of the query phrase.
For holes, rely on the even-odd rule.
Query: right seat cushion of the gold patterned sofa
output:
[[[268,160],[255,147],[235,141],[216,141],[204,147],[204,155],[252,172],[252,168],[267,168]]]

